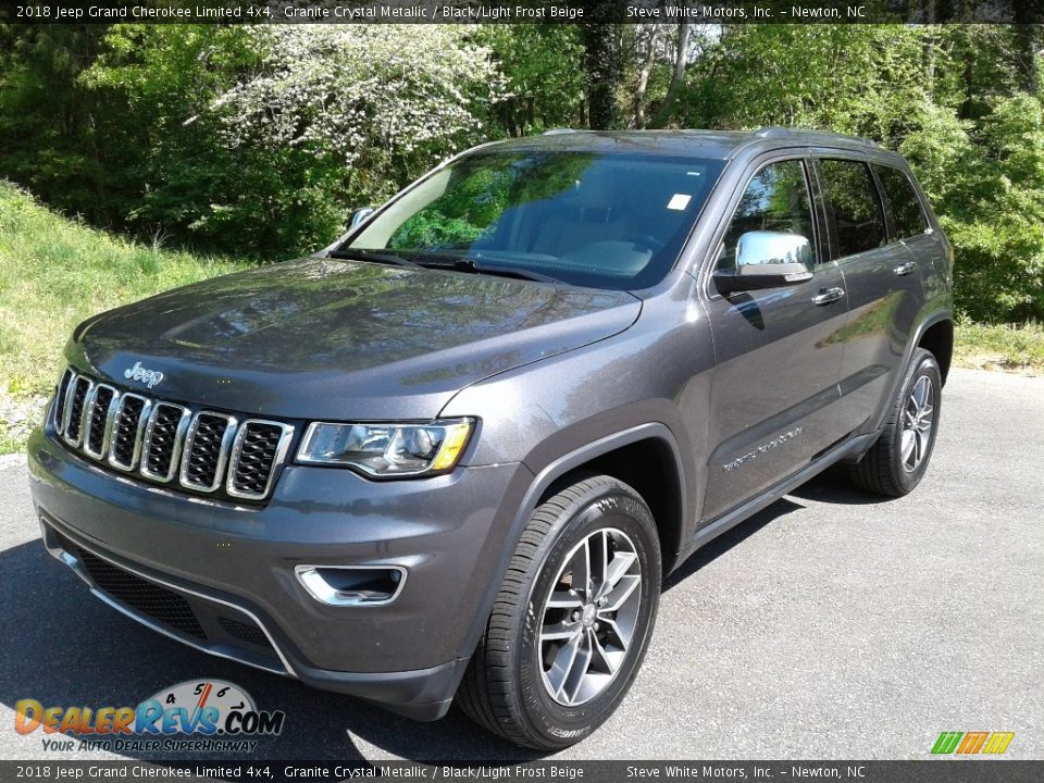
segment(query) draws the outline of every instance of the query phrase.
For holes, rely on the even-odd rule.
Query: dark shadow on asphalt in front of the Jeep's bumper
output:
[[[39,540],[0,552],[0,634],[4,666],[0,703],[45,707],[134,707],[187,680],[217,679],[249,693],[259,709],[283,710],[283,732],[262,737],[249,757],[366,761],[382,751],[415,761],[526,761],[540,758],[475,726],[456,709],[442,721],[418,723],[358,699],[316,691],[186,647],[153,633],[94,598]],[[21,742],[45,738],[37,729]],[[54,735],[47,735],[53,739]],[[33,755],[40,753],[37,746]],[[23,754],[24,755],[24,754]],[[134,759],[213,759],[229,754],[124,753]],[[243,754],[240,754],[243,755]],[[78,754],[65,755],[73,759]]]

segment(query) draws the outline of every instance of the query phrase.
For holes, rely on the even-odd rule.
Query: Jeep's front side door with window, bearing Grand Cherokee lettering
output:
[[[816,248],[812,278],[723,297],[708,283],[716,368],[707,432],[705,523],[806,464],[842,434],[838,400],[845,281],[830,260],[809,160],[762,159],[732,208],[716,269],[735,264],[750,231],[797,234]]]

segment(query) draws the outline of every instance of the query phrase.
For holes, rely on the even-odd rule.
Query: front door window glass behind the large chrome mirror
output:
[[[805,165],[798,160],[770,163],[747,185],[725,232],[724,251],[718,269],[735,269],[736,247],[747,232],[781,232],[808,239],[815,247],[812,207]]]

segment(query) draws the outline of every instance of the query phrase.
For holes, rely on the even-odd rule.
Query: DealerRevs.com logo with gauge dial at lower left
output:
[[[285,720],[282,710],[259,710],[238,685],[190,680],[163,688],[137,707],[45,706],[37,699],[20,699],[14,730],[39,731],[49,751],[249,753],[258,737],[277,736]]]

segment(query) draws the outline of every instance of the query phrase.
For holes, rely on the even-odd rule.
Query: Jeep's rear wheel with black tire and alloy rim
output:
[[[921,482],[939,432],[942,386],[935,357],[923,348],[915,350],[881,437],[849,468],[858,486],[900,497]]]

